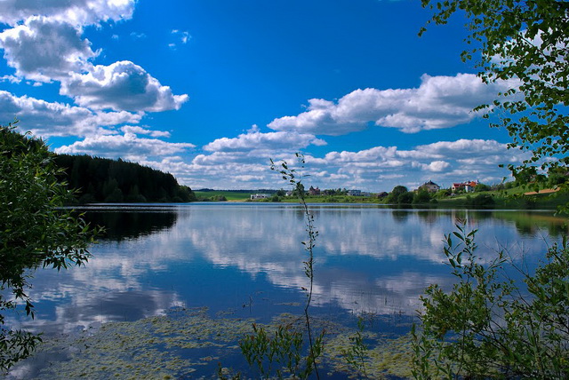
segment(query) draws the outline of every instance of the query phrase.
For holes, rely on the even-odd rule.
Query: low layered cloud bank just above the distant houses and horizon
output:
[[[269,170],[269,159],[285,160],[300,169],[294,152],[298,149],[270,147],[267,136],[256,128],[236,139],[218,139],[215,144],[191,159],[168,156],[144,162],[167,170],[188,186],[195,188],[279,188],[286,187],[280,176]],[[268,134],[260,134],[268,135]],[[260,141],[251,139],[260,138]],[[257,145],[259,144],[259,145]],[[524,154],[507,149],[493,139],[458,139],[400,149],[397,146],[373,146],[359,151],[332,151],[324,155],[306,154],[301,169],[307,186],[320,188],[359,188],[380,192],[396,185],[410,189],[433,180],[439,185],[480,180],[493,184],[509,175],[498,163],[520,162]]]

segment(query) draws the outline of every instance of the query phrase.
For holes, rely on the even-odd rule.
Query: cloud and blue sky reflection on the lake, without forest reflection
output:
[[[536,257],[545,247],[540,236],[548,233],[533,226],[533,234],[520,234],[517,218],[493,218],[488,211],[313,210],[320,232],[314,305],[355,313],[413,315],[429,283],[450,286],[442,240],[458,218],[480,230],[478,253],[485,260],[494,257],[499,242],[520,242],[528,257]],[[284,291],[303,302],[306,235],[295,206],[192,204],[161,212],[170,215],[130,218],[147,233],[133,234],[136,226],[127,226],[128,235],[94,246],[84,268],[38,271],[30,291],[38,314],[30,326],[68,332],[196,302],[221,310],[259,287],[272,287],[263,296],[272,305]]]

